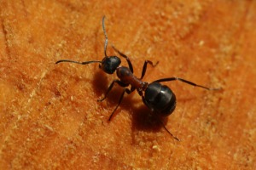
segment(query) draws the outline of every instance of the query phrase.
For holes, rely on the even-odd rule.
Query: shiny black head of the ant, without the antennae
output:
[[[117,56],[107,56],[102,59],[102,65],[99,65],[100,68],[108,74],[113,74],[114,71],[121,64],[121,59]]]

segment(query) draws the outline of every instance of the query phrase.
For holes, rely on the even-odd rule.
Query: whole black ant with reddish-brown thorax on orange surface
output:
[[[131,65],[131,60],[125,55],[122,54],[117,48],[115,48],[112,45],[112,48],[115,52],[117,52],[120,56],[126,59],[129,68],[125,66],[119,66],[121,64],[121,59],[117,56],[108,56],[107,55],[107,46],[108,46],[108,36],[107,32],[105,30],[104,26],[104,20],[105,16],[102,18],[102,29],[105,35],[105,44],[104,44],[104,54],[105,57],[100,60],[91,60],[91,61],[85,61],[85,62],[79,62],[79,61],[73,61],[69,59],[61,59],[55,62],[55,64],[61,63],[61,62],[70,62],[70,63],[76,63],[79,65],[88,65],[90,63],[100,63],[99,67],[102,69],[102,71],[113,74],[114,71],[116,71],[117,77],[119,79],[113,80],[113,82],[108,87],[107,92],[105,93],[104,97],[102,99],[98,99],[97,101],[102,102],[104,99],[106,99],[108,93],[113,88],[113,84],[117,83],[120,87],[124,88],[120,98],[119,103],[114,108],[113,112],[108,118],[108,121],[111,121],[113,117],[113,113],[118,109],[125,93],[131,94],[133,91],[137,90],[137,93],[142,96],[143,103],[146,105],[150,111],[155,113],[157,116],[169,116],[172,114],[172,112],[175,110],[176,107],[176,96],[173,94],[171,88],[168,88],[166,85],[162,85],[160,82],[169,82],[169,81],[181,81],[185,82],[189,85],[199,87],[199,88],[205,88],[207,90],[218,90],[219,88],[207,88],[198,84],[195,84],[194,82],[189,82],[187,80],[184,80],[183,78],[178,77],[170,77],[170,78],[162,78],[159,80],[155,80],[154,82],[148,83],[143,82],[143,77],[147,70],[147,65],[152,65],[153,67],[155,65],[158,65],[158,61],[156,64],[153,64],[150,60],[145,60],[143,65],[143,71],[140,78],[137,78],[133,75],[133,67]],[[131,88],[127,88],[129,85],[131,85]],[[161,121],[160,121],[161,122]],[[172,135],[173,139],[177,139],[164,125],[163,122],[161,122],[163,127],[166,129],[167,133]]]

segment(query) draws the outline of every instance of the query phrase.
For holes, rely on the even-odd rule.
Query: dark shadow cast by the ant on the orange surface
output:
[[[94,87],[94,92],[96,93],[97,96],[99,96],[98,99],[101,99],[101,97],[106,93],[110,83],[111,82],[108,81],[108,76],[106,76],[106,73],[104,73],[101,70],[95,71],[95,75],[94,75],[92,84]],[[116,105],[118,105],[119,96],[121,95],[123,89],[124,88],[119,87],[118,85],[114,85],[113,89],[110,91],[110,93],[108,94],[108,97],[106,99],[108,101],[111,101],[111,102],[108,102],[109,107],[114,108]],[[161,124],[161,122],[166,124],[167,119],[156,116],[154,113],[152,113],[148,109],[148,107],[143,104],[142,99],[140,99],[140,100],[139,99],[131,99],[133,94],[136,95],[137,92],[135,91],[134,93],[129,94],[129,95],[125,94],[124,99],[122,100],[121,104],[119,105],[119,108],[114,112],[112,119],[115,119],[116,118],[115,116],[118,115],[121,110],[125,110],[125,111],[132,110],[131,128],[132,128],[132,132],[134,132],[133,133],[134,135],[136,135],[137,131],[143,131],[143,132],[148,132],[148,133],[159,132],[161,130],[161,128],[163,128],[163,125]],[[139,107],[132,105],[133,103],[137,103],[137,102],[141,103],[141,105]],[[131,105],[127,105],[127,103],[131,104]],[[110,112],[107,117],[109,117],[111,115],[111,113],[112,112]],[[160,122],[160,120],[161,120],[161,122]],[[108,122],[107,119],[106,119],[106,122]],[[108,123],[111,123],[111,121]],[[166,133],[166,134],[169,135],[168,133]],[[134,140],[134,137],[133,137],[133,140]]]

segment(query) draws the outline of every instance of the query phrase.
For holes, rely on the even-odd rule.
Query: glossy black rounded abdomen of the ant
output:
[[[169,116],[176,107],[176,96],[166,85],[159,82],[148,84],[143,102],[148,108],[160,116]]]

